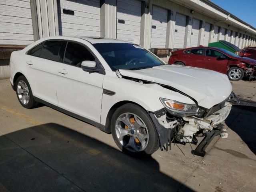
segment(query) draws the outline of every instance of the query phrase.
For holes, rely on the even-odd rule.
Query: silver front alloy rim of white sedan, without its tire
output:
[[[121,114],[116,120],[115,130],[120,144],[131,152],[143,151],[148,145],[148,129],[133,113]]]

